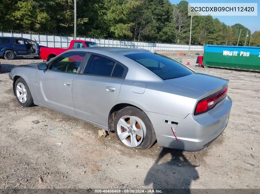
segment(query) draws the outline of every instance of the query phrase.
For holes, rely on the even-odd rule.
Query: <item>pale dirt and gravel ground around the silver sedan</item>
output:
[[[214,143],[192,153],[157,144],[130,149],[114,133],[98,139],[98,127],[19,105],[8,72],[42,60],[0,59],[0,188],[260,188],[260,74],[200,68],[196,55],[164,54],[230,79],[230,121]]]

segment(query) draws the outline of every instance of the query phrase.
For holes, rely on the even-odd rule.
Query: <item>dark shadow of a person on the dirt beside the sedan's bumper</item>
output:
[[[181,141],[178,143],[183,144]],[[144,184],[153,184],[154,190],[162,189],[164,193],[174,193],[172,189],[178,189],[178,193],[190,193],[191,181],[198,179],[199,176],[183,152],[163,148],[154,165],[149,169]]]

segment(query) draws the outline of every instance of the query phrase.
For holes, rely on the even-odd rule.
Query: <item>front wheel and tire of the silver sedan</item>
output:
[[[34,105],[30,89],[23,78],[18,78],[14,85],[15,96],[20,105],[30,107]]]

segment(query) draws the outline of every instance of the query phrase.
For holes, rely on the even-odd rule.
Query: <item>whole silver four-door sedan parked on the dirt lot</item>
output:
[[[197,151],[225,129],[229,80],[143,49],[84,48],[9,73],[25,107],[39,105],[115,131],[126,146]]]

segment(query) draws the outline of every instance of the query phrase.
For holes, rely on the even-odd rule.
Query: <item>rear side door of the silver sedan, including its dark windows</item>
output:
[[[111,108],[117,104],[127,67],[106,56],[91,54],[72,84],[77,116],[108,126]]]

